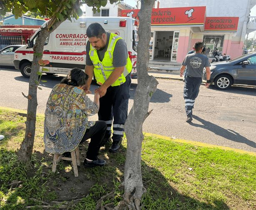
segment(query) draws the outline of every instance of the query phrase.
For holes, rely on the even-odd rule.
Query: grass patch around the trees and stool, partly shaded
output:
[[[37,118],[33,161],[20,164],[15,149],[23,140],[25,117],[7,110],[0,110],[0,116],[0,134],[5,135],[0,141],[0,210],[43,209],[42,201],[72,203],[76,198],[80,202],[69,209],[89,210],[113,189],[115,197],[103,204],[115,206],[122,200],[118,185],[123,181],[125,138],[117,154],[100,150],[108,165],[81,166],[76,178],[71,162],[61,161],[57,172],[51,173],[53,156],[44,151],[43,117]],[[84,144],[81,153],[87,147]],[[141,200],[143,210],[256,209],[256,156],[147,136],[142,147],[141,171],[147,190]],[[78,191],[88,183],[85,194]],[[61,192],[70,198],[62,198]]]

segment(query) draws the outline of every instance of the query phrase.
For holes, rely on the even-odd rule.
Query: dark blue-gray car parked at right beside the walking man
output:
[[[256,52],[242,55],[230,61],[212,63],[211,83],[218,90],[226,90],[232,84],[256,85]],[[206,80],[206,71],[203,72]]]

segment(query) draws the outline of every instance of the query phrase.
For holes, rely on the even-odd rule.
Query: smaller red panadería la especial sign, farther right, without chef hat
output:
[[[236,32],[239,17],[206,17],[205,31]]]

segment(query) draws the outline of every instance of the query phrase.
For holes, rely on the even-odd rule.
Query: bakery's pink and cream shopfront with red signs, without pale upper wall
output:
[[[136,17],[139,10],[122,10],[122,16]],[[153,9],[151,14],[152,56],[155,61],[181,63],[196,42],[203,42],[206,55],[212,52],[238,57],[231,44],[239,17],[206,17],[206,7],[178,7]],[[151,48],[151,46],[150,46]]]

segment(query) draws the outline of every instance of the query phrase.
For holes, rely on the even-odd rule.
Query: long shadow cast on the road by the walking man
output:
[[[220,127],[218,125],[215,125],[209,121],[203,120],[200,117],[197,117],[194,115],[193,115],[193,118],[203,124],[203,125],[198,125],[198,124],[191,122],[190,125],[192,125],[194,127],[201,127],[201,128],[207,129],[207,130],[213,132],[214,134],[221,136],[225,139],[229,139],[233,142],[244,143],[250,147],[256,148],[256,142],[246,139],[245,137],[241,136],[240,134],[238,134],[237,132],[235,132],[231,129],[223,129],[222,127]]]

